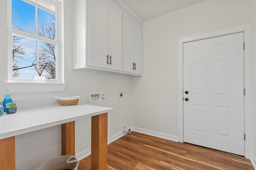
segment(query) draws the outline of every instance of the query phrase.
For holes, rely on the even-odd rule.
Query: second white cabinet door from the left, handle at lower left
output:
[[[122,70],[122,8],[108,1],[108,68]]]

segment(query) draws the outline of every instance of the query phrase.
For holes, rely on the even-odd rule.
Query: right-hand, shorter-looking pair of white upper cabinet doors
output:
[[[123,71],[142,74],[142,26],[123,13]]]

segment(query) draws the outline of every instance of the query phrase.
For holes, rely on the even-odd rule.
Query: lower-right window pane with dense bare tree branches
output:
[[[56,79],[56,45],[39,41],[39,70],[46,79]]]

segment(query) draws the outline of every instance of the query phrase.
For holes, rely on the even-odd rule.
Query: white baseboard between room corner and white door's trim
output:
[[[140,128],[137,128],[137,127],[132,127],[132,131],[143,133],[143,134],[146,134],[146,135],[151,135],[151,136],[154,136],[154,137],[160,137],[160,138],[167,139],[167,140],[170,140],[170,141],[178,142],[178,137],[172,136],[172,135],[167,135],[167,134],[164,134],[164,133],[148,131],[148,130],[140,129]]]

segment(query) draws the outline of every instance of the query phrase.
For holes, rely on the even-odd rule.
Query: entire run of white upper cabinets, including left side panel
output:
[[[114,0],[76,0],[74,69],[140,76],[142,27]]]

